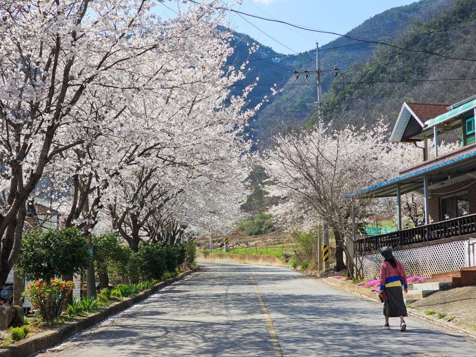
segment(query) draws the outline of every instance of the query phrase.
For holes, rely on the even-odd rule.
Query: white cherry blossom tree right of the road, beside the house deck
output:
[[[350,126],[333,130],[321,123],[309,132],[276,136],[274,147],[264,153],[262,165],[273,182],[267,189],[270,195],[281,197],[271,212],[288,227],[298,223],[312,228],[316,222],[327,222],[337,243],[336,270],[344,268],[344,238],[350,232],[353,207],[359,216],[372,202],[342,196],[384,179],[381,162],[389,151],[386,135],[387,126],[381,121],[360,130]]]

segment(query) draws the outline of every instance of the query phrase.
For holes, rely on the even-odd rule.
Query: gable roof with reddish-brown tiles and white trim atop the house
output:
[[[409,139],[423,130],[425,127],[424,123],[427,120],[446,113],[447,107],[448,104],[404,102],[390,136],[390,141],[412,141]]]

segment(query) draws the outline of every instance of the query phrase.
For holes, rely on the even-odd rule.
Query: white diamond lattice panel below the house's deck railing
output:
[[[431,274],[459,270],[465,266],[465,243],[468,239],[453,242],[434,244],[426,247],[402,249],[393,252],[400,260],[407,276],[431,276]],[[383,258],[380,254],[370,254],[364,257],[364,279],[378,279],[380,263]]]

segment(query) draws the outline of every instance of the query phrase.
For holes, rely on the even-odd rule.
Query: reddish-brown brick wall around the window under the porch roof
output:
[[[458,195],[460,193],[468,193],[470,201],[470,211],[468,214],[476,213],[476,179],[461,181],[453,185],[444,186],[442,188],[432,190],[431,198],[428,200],[429,214],[435,222],[442,221],[441,198],[448,195]]]

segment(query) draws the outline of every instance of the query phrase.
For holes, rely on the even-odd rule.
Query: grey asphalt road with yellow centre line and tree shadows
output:
[[[201,263],[147,300],[38,356],[476,356],[476,341],[287,268]]]

